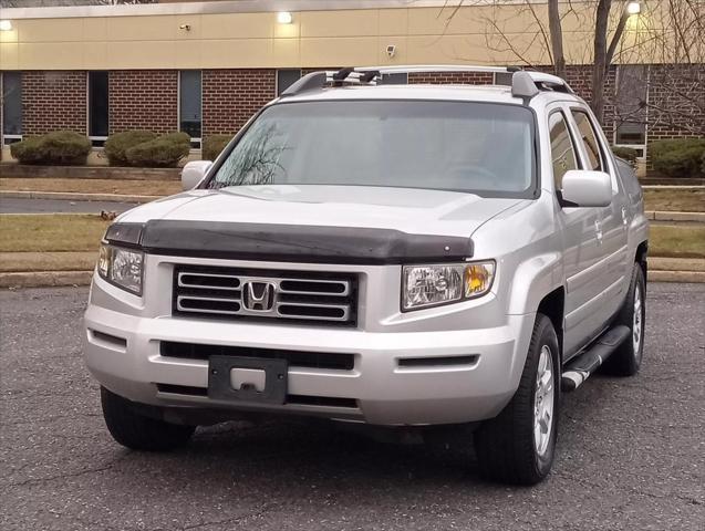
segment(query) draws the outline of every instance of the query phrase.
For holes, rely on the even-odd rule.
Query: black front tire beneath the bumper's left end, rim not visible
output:
[[[166,423],[135,412],[129,400],[101,387],[103,418],[113,438],[133,450],[167,451],[185,445],[194,426]]]

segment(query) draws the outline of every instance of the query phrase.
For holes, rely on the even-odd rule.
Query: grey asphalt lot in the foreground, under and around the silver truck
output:
[[[117,446],[81,358],[86,289],[0,292],[0,529],[705,529],[705,284],[650,284],[644,366],[564,395],[533,488],[483,482],[470,445],[400,446],[303,423]]]

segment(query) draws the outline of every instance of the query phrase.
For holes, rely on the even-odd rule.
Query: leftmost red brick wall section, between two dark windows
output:
[[[86,73],[24,71],[22,74],[22,133],[41,135],[70,129],[86,133]]]

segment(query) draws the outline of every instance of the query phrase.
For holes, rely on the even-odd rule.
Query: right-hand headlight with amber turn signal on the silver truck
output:
[[[484,295],[495,279],[495,262],[404,266],[402,310],[418,310]]]

